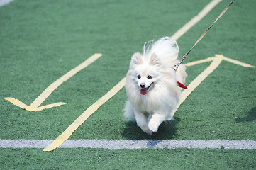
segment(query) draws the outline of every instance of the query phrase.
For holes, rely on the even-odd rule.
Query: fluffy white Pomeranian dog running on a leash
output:
[[[165,120],[171,120],[171,111],[177,108],[181,88],[187,77],[184,64],[177,72],[179,47],[169,37],[156,42],[145,42],[143,55],[135,53],[126,75],[128,101],[124,116],[136,120],[149,135],[158,130]],[[182,84],[182,85],[181,85]],[[178,86],[179,85],[179,86]]]

